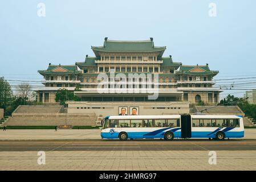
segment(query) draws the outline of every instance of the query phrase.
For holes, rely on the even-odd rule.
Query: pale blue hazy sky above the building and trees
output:
[[[39,3],[45,5],[45,16],[38,16]],[[209,15],[210,3],[216,5],[216,16]],[[173,61],[208,63],[220,71],[214,78],[222,88],[237,84],[221,98],[229,93],[241,97],[256,88],[255,9],[255,0],[2,0],[0,76],[40,81],[39,69],[84,61],[94,56],[91,46],[102,46],[105,37],[152,37],[155,46],[166,46],[164,56],[172,55]],[[230,78],[246,79],[223,80]]]

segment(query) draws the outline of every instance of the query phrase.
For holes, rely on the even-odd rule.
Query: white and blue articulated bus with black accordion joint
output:
[[[113,115],[105,117],[101,138],[242,138],[243,118],[239,115]]]

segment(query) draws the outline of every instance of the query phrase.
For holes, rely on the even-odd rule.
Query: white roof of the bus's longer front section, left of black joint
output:
[[[178,119],[180,115],[111,115],[108,119]]]

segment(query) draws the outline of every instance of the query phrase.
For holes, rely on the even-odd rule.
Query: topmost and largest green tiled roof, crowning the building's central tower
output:
[[[162,56],[166,47],[156,47],[154,46],[152,40],[141,40],[141,41],[118,41],[118,40],[106,40],[104,41],[104,46],[94,47],[96,56],[99,56],[100,52],[160,52],[159,55]]]

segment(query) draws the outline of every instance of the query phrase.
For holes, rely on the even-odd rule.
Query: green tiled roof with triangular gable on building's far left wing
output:
[[[55,71],[56,69],[61,69],[63,71]],[[49,64],[46,70],[38,70],[41,75],[51,74],[51,75],[70,75],[70,74],[79,74],[82,71],[78,71],[76,65],[52,65]]]

